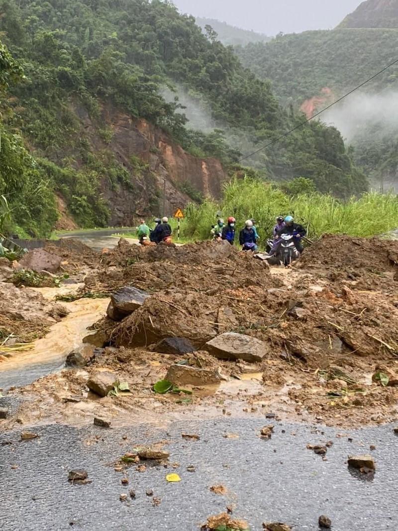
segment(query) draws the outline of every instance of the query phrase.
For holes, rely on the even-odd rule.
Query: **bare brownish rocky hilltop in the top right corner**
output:
[[[398,0],[367,0],[339,28],[398,28]]]

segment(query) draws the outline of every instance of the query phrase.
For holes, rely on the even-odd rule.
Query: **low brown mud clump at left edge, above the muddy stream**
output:
[[[33,289],[0,282],[0,338],[12,336],[23,342],[43,337],[68,313]]]

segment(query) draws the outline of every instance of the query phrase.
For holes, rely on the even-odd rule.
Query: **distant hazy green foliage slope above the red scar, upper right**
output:
[[[398,29],[337,29],[277,36],[236,48],[243,64],[272,81],[276,95],[293,102],[318,96],[324,87],[336,97],[356,87],[398,56]],[[385,88],[398,78],[398,65],[366,90]]]

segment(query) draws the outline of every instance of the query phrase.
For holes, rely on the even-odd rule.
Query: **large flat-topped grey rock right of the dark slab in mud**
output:
[[[210,354],[220,359],[244,359],[259,362],[270,352],[264,341],[241,333],[225,332],[206,343]]]

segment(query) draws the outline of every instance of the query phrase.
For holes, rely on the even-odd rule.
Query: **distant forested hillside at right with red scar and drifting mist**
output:
[[[236,51],[245,66],[272,81],[283,106],[293,104],[311,115],[395,61],[398,29],[307,31]],[[352,127],[357,124],[349,138],[355,161],[375,181],[384,179],[387,188],[398,183],[397,79],[398,64],[347,98],[340,112]],[[324,118],[334,122],[333,113]]]

